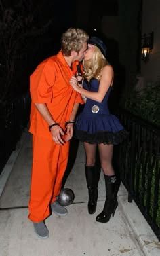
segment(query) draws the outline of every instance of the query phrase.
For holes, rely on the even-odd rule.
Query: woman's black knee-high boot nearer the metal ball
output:
[[[98,200],[98,182],[100,179],[100,168],[98,168],[97,166],[85,165],[85,177],[89,194],[89,200],[87,205],[88,212],[89,214],[93,214],[96,211]]]

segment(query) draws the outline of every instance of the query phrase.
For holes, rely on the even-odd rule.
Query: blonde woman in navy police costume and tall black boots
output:
[[[106,45],[98,37],[89,39],[83,65],[85,69],[83,88],[77,83],[77,78],[71,77],[70,80],[71,86],[81,93],[86,103],[77,117],[75,138],[83,141],[85,147],[85,175],[89,191],[90,214],[96,211],[98,200],[100,170],[95,165],[96,147],[98,147],[106,185],[106,201],[96,221],[104,223],[109,221],[111,215],[114,217],[118,206],[117,178],[112,165],[113,145],[121,143],[127,136],[127,132],[108,109],[108,97],[113,86],[114,72],[113,67],[106,60]]]

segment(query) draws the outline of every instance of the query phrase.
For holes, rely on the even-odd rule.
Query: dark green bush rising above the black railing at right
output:
[[[121,99],[121,106],[134,115],[160,126],[160,82],[133,89],[130,96]]]

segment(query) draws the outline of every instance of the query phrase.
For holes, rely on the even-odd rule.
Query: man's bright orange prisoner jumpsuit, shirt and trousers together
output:
[[[81,95],[69,84],[72,75],[61,51],[43,61],[31,75],[29,131],[33,134],[33,166],[28,218],[33,222],[49,216],[49,204],[60,193],[69,151],[69,142],[58,145],[52,140],[48,124],[34,103],[45,103],[54,121],[65,130],[75,103],[83,103]]]

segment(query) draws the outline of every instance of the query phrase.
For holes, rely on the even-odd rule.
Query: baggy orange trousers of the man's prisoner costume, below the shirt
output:
[[[52,138],[46,139],[33,135],[33,166],[28,215],[33,222],[43,221],[50,215],[49,204],[51,201],[54,202],[57,196],[54,191],[60,191],[60,181],[68,161],[68,148],[69,143],[61,146],[54,143]]]

